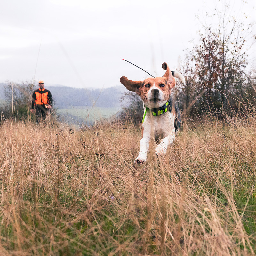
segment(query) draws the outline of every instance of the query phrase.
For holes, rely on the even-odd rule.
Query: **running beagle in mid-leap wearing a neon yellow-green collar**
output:
[[[136,92],[144,103],[140,152],[134,160],[138,164],[145,163],[147,160],[151,136],[162,138],[155,153],[158,156],[164,156],[168,146],[174,142],[175,132],[180,128],[180,110],[178,104],[171,98],[171,89],[176,84],[174,77],[179,78],[182,83],[185,83],[185,78],[178,72],[170,71],[165,62],[162,68],[166,70],[163,77],[147,78],[144,81],[132,81],[125,76],[120,78],[120,82],[126,89]]]

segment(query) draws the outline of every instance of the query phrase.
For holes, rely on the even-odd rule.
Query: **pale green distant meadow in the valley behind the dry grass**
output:
[[[75,106],[69,108],[57,109],[57,113],[64,117],[68,123],[74,123],[78,126],[82,124],[92,124],[100,118],[109,118],[115,115],[119,108],[103,108],[92,106]]]

